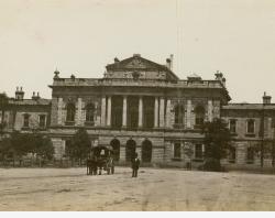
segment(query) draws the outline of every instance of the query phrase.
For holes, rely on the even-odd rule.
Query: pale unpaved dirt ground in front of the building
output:
[[[0,168],[0,210],[275,210],[275,175],[116,171]]]

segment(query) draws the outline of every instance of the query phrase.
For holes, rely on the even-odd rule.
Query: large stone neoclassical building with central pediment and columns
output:
[[[271,97],[264,96],[263,103],[229,103],[231,98],[220,72],[211,80],[196,74],[180,79],[172,67],[173,56],[161,65],[134,54],[122,61],[114,58],[102,78],[63,78],[56,70],[50,85],[52,99],[34,96],[32,103],[29,100],[29,112],[16,113],[25,116],[23,121],[12,119],[14,110],[6,111],[6,117],[13,120],[8,129],[20,129],[32,115],[38,119],[45,115],[43,131],[51,135],[56,159],[66,156],[66,144],[77,129],[85,128],[91,146],[112,146],[121,163],[138,152],[143,164],[185,166],[204,160],[200,126],[223,118],[235,145],[224,164],[261,164],[257,148],[272,144],[274,139],[275,105]],[[10,101],[14,108],[28,100]],[[264,164],[271,166],[272,157],[265,156]]]

